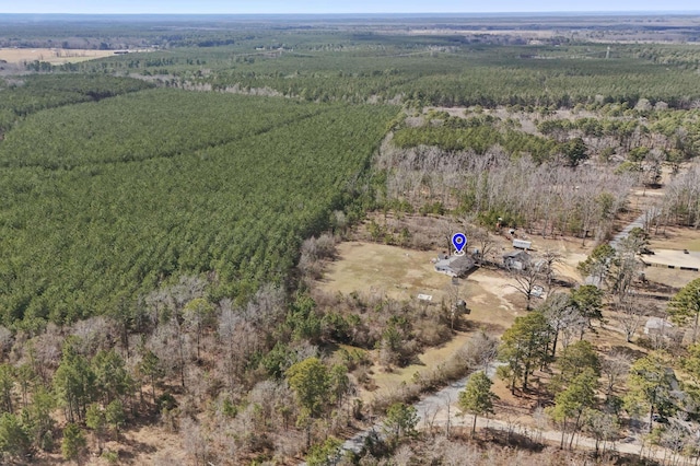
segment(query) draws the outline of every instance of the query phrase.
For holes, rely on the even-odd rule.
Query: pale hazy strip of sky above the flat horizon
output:
[[[699,11],[696,0],[0,0],[0,13],[488,13]]]

